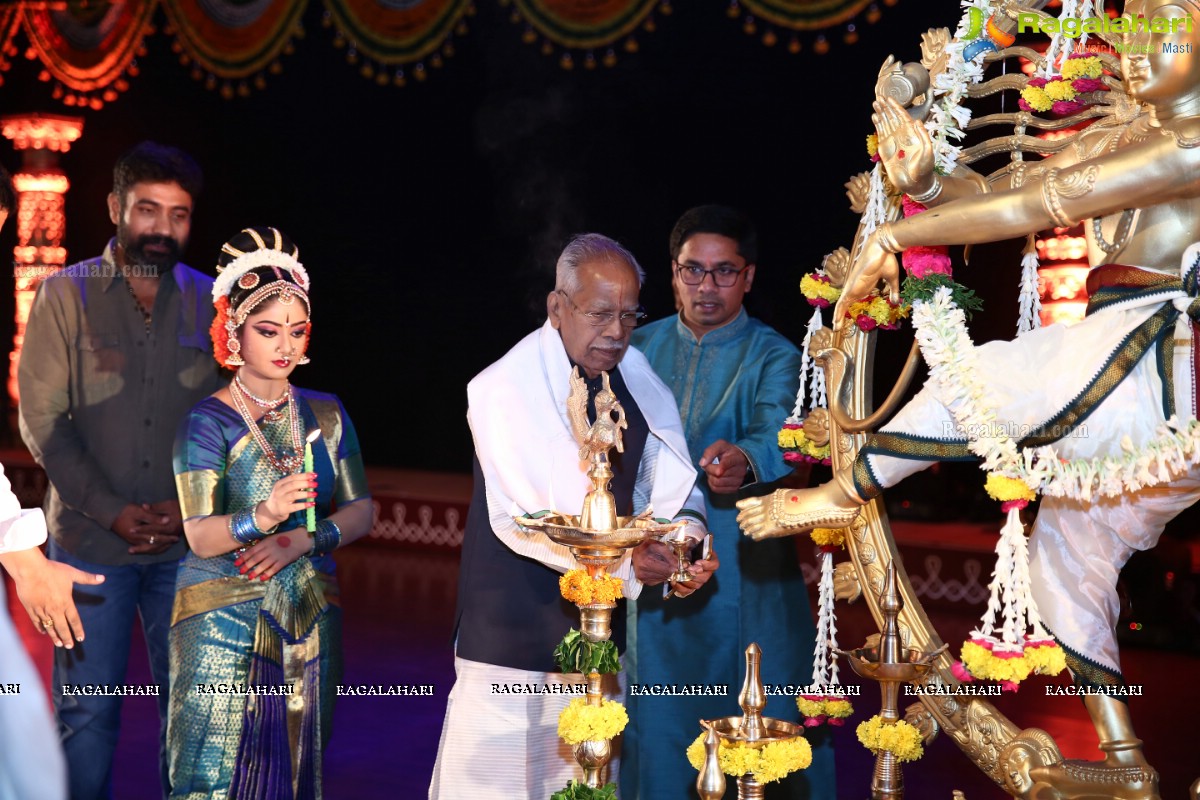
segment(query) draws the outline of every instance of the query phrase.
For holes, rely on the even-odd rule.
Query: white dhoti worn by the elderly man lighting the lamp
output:
[[[511,669],[457,656],[454,666],[457,679],[446,702],[430,800],[545,800],[571,778],[583,780],[571,746],[558,738],[558,715],[584,697],[582,688],[571,691],[587,686],[584,675]],[[619,702],[624,694],[624,670],[616,680],[606,676],[606,699]],[[606,780],[620,772],[613,744]]]

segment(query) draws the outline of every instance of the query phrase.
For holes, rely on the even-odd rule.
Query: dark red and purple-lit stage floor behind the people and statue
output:
[[[917,549],[911,553],[919,554]],[[432,684],[434,696],[341,698],[325,757],[325,796],[422,798],[454,681],[450,625],[457,553],[364,545],[337,558],[346,610],[346,682]],[[974,604],[950,602],[930,602],[928,610],[942,637],[954,643],[976,624],[979,613]],[[858,644],[875,631],[862,603],[839,608],[839,628],[844,645]],[[770,643],[760,644],[769,657]],[[148,680],[139,642],[131,663],[131,682]],[[1126,648],[1124,667],[1130,682],[1145,686],[1145,696],[1132,698],[1130,705],[1147,756],[1163,776],[1163,796],[1182,799],[1188,784],[1200,776],[1200,744],[1195,736],[1180,735],[1181,724],[1193,722],[1200,711],[1200,684],[1195,680],[1200,658]],[[842,670],[844,680],[854,680],[846,676],[848,672]],[[1022,727],[1050,732],[1069,757],[1098,758],[1082,704],[1075,698],[1048,698],[1044,684],[1028,681],[1018,694],[1001,698],[1000,708]],[[863,692],[850,724],[834,732],[838,798],[845,800],[869,795],[872,759],[854,739],[854,724],[878,708],[878,699],[872,687],[864,686]],[[731,698],[731,714],[737,710],[733,703]],[[155,727],[152,704],[131,698],[116,756],[115,796],[152,796],[155,765],[148,754],[155,751]],[[922,760],[905,768],[905,780],[908,796],[920,800],[949,800],[953,789],[964,790],[967,800],[1006,796],[944,738],[935,741]]]

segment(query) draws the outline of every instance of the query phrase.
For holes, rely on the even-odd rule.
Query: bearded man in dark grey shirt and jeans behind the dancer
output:
[[[88,642],[58,649],[54,706],[76,800],[110,795],[134,614],[167,722],[167,631],[184,555],[170,453],[180,419],[221,386],[212,279],[176,259],[202,174],[143,142],[113,170],[116,239],[38,289],[18,368],[20,433],[46,469],[49,557],[104,576],[76,600]],[[109,690],[110,691],[110,690]],[[160,753],[167,788],[164,752]]]

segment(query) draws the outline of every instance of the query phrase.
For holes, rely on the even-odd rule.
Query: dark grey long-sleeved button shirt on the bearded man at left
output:
[[[112,530],[130,503],[176,498],[175,428],[223,384],[212,359],[212,279],[176,264],[160,278],[150,331],[113,260],[66,267],[37,290],[17,372],[20,435],[46,469],[54,540],[94,564],[180,559],[180,542],[130,555]]]

